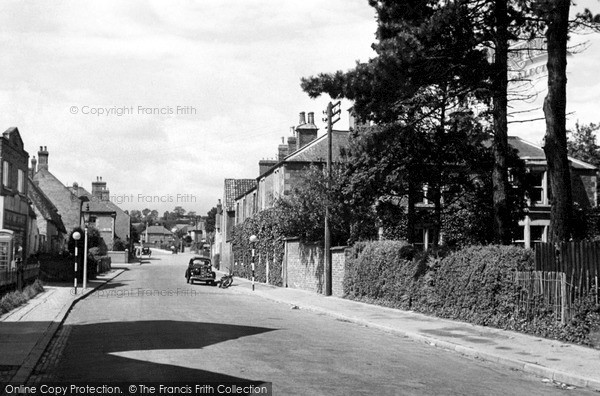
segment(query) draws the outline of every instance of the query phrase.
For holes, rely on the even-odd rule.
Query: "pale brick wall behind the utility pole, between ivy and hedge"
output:
[[[346,264],[346,248],[331,249],[332,294],[344,294],[343,281]],[[303,244],[297,239],[286,241],[283,263],[287,287],[323,293],[325,288],[323,248],[319,244]],[[284,279],[284,283],[286,280]]]

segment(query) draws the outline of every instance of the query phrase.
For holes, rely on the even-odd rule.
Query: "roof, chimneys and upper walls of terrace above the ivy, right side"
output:
[[[273,206],[277,198],[289,194],[311,166],[327,164],[327,134],[317,136],[314,113],[300,113],[300,124],[287,144],[278,147],[277,160],[261,160],[256,186],[235,197],[235,224]],[[349,131],[332,131],[332,162],[344,161]]]

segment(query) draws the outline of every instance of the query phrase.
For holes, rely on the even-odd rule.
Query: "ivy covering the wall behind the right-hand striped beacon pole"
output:
[[[276,286],[283,285],[281,277],[284,234],[280,227],[280,219],[275,209],[267,209],[247,218],[242,224],[233,227],[232,250],[234,275],[250,279],[252,277],[252,244],[250,236],[255,235],[255,279],[266,282],[266,268],[269,263],[268,283]]]

